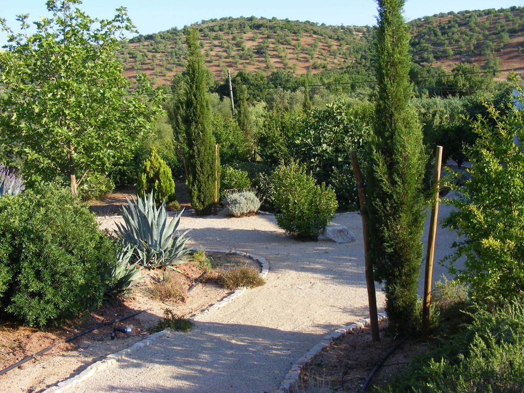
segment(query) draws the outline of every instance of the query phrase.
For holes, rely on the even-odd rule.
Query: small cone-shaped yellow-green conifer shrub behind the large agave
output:
[[[169,203],[176,199],[171,169],[160,158],[155,149],[151,151],[151,155],[144,161],[144,166],[138,174],[136,188],[138,194],[152,192],[157,203],[162,201]]]

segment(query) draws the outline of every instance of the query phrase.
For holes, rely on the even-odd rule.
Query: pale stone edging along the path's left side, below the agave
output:
[[[191,247],[190,248],[193,251],[197,251],[199,249],[204,250],[208,253],[223,253],[223,254],[237,254],[242,255],[248,258],[251,258],[253,260],[256,260],[261,267],[260,276],[266,277],[269,273],[269,264],[267,263],[266,258],[258,256],[258,255],[252,255],[248,253],[243,253],[236,251],[234,249],[231,250],[216,250],[216,249],[210,249],[210,248],[202,248],[202,247]],[[199,316],[208,314],[212,311],[218,310],[219,308],[223,307],[227,303],[231,302],[233,299],[239,297],[242,293],[246,291],[246,288],[240,288],[234,291],[233,293],[226,296],[224,299],[220,300],[219,302],[211,305],[210,307],[206,308],[203,311],[200,311],[188,318],[191,321],[195,321]],[[107,355],[103,360],[93,363],[92,365],[88,366],[85,370],[83,370],[80,374],[75,375],[74,377],[65,379],[63,381],[60,381],[58,384],[44,390],[42,393],[62,393],[66,391],[69,388],[72,388],[75,385],[80,384],[85,379],[93,376],[95,373],[110,367],[114,366],[118,363],[118,361],[122,360],[125,357],[128,357],[129,355],[137,352],[141,348],[144,348],[145,346],[151,345],[154,341],[156,341],[159,337],[167,336],[169,337],[171,335],[172,331],[171,329],[167,328],[162,330],[161,332],[150,334],[147,339],[141,340],[129,348],[126,348],[125,350],[115,352],[113,354]]]

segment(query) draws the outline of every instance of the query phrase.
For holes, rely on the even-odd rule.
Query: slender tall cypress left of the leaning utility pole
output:
[[[185,86],[185,134],[188,147],[188,191],[191,206],[199,215],[211,214],[215,194],[215,138],[211,131],[211,108],[206,92],[207,70],[198,43],[199,33],[188,29],[188,64]],[[220,183],[220,182],[219,182]]]

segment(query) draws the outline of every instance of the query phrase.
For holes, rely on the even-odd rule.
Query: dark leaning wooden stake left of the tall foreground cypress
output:
[[[380,341],[378,334],[377,296],[375,293],[375,280],[373,279],[373,264],[369,260],[369,234],[367,232],[366,194],[364,193],[364,181],[362,172],[358,165],[357,152],[352,150],[351,165],[355,173],[357,183],[358,200],[361,205],[362,236],[364,238],[364,266],[366,271],[367,299],[369,304],[369,320],[371,325],[371,336],[373,341]]]

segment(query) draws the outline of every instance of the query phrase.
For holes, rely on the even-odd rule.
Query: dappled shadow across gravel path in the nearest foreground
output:
[[[319,334],[198,322],[190,333],[157,340],[74,391],[269,392],[278,388],[293,361],[321,339]]]

